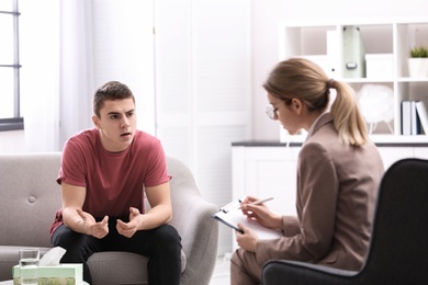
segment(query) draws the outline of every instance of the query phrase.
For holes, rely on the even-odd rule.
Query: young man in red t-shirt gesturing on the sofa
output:
[[[179,284],[181,238],[172,217],[169,180],[160,141],[136,129],[135,98],[111,81],[93,96],[94,128],[68,139],[57,182],[63,207],[52,243],[67,250],[63,263],[82,263],[94,252],[128,251],[149,258],[149,284]],[[144,191],[151,208],[145,213]]]

